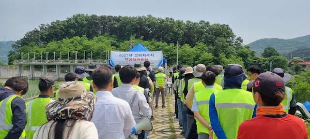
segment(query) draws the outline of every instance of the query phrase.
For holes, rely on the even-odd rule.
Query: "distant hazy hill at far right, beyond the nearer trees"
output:
[[[310,48],[310,35],[288,40],[278,38],[260,39],[248,45],[251,47],[251,50],[257,52],[257,56],[261,56],[261,53],[267,46],[273,46],[280,54],[286,54],[294,50]]]

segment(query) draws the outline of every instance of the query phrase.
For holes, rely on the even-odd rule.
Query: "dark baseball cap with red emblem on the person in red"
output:
[[[249,82],[248,88],[251,87],[254,87],[257,92],[270,97],[276,89],[285,91],[285,82],[278,74],[267,71],[258,75],[253,82]]]

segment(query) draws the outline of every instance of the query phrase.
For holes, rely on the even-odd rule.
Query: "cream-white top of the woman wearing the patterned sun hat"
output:
[[[33,139],[54,139],[55,126],[54,120],[41,125],[33,135]],[[53,124],[54,123],[54,124]],[[53,126],[52,126],[53,125]],[[71,125],[71,123],[69,123]],[[49,129],[52,128],[51,132]],[[69,130],[70,134],[69,134]],[[48,135],[49,133],[49,135]],[[92,122],[85,120],[78,120],[73,127],[64,127],[62,139],[98,139],[96,126]]]

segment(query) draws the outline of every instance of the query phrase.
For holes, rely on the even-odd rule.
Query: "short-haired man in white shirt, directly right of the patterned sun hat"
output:
[[[93,71],[92,78],[98,100],[91,122],[97,128],[99,139],[127,139],[136,122],[128,102],[111,93],[112,71],[107,67],[98,67]]]

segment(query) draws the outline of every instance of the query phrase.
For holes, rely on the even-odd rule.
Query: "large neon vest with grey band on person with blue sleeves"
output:
[[[236,139],[239,125],[253,116],[255,102],[252,93],[235,88],[220,90],[214,96],[218,121],[225,136]]]

